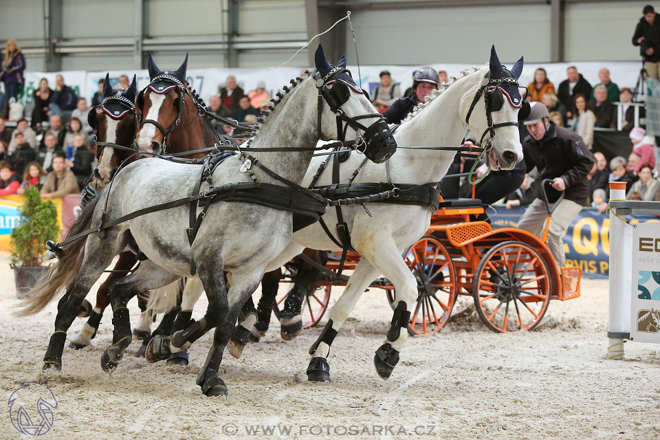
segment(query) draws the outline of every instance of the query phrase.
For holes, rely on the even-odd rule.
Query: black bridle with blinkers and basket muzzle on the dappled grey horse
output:
[[[347,72],[349,76],[351,74],[344,67],[335,67],[323,77],[318,72],[314,74],[316,88],[318,89],[318,138],[320,140],[327,140],[321,133],[321,116],[323,113],[323,100],[325,100],[331,111],[336,114],[338,139],[340,141],[345,140],[346,132],[350,126],[358,133],[356,149],[374,162],[384,162],[397,151],[397,143],[394,140],[394,136],[390,132],[387,122],[385,122],[385,118],[381,113],[367,113],[354,116],[353,118],[344,113],[341,107],[349,99],[351,94],[350,89],[353,89],[353,91],[359,94],[362,94],[362,90],[336,78],[342,72]],[[364,126],[364,124],[358,122],[358,120],[366,118],[378,118],[378,120],[370,126]],[[359,130],[364,132],[364,137],[360,136]]]

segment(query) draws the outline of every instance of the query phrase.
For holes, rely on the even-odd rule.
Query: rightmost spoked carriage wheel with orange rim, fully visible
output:
[[[521,241],[505,241],[483,255],[474,274],[474,306],[492,331],[531,330],[550,301],[550,274],[543,257]]]

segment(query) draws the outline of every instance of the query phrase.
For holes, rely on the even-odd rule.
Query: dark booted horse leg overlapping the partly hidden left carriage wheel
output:
[[[320,251],[318,250],[307,248],[303,254],[320,264],[327,262],[322,261]],[[280,334],[285,341],[292,340],[300,334],[300,331],[303,331],[303,316],[300,314],[300,311],[303,308],[305,298],[313,295],[314,291],[316,291],[316,281],[318,281],[321,273],[320,270],[309,263],[303,261],[298,261],[297,263],[298,270],[293,279],[294,287],[287,295],[280,318]]]

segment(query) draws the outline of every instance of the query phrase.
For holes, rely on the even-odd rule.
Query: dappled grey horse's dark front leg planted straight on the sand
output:
[[[234,322],[238,318],[241,306],[245,304],[245,300],[252,295],[252,292],[256,290],[261,282],[263,268],[261,271],[252,270],[247,274],[232,274],[228,292],[225,291],[223,277],[213,273],[203,273],[202,271],[200,271],[199,276],[204,281],[206,294],[209,297],[209,305],[212,300],[216,305],[212,310],[209,310],[210,313],[207,312],[208,318],[215,322],[216,329],[213,336],[213,345],[197,377],[197,385],[201,387],[202,393],[207,396],[227,395],[227,386],[217,375],[222,361],[222,353],[232,334]],[[209,294],[209,291],[216,292],[216,294]]]

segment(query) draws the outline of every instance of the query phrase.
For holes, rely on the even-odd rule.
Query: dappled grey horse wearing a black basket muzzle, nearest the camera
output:
[[[187,349],[197,338],[215,328],[213,344],[197,384],[205,395],[227,394],[227,387],[217,371],[239,310],[259,285],[270,261],[289,244],[296,221],[293,212],[305,216],[303,224],[309,224],[310,219],[318,220],[318,214],[325,212],[325,199],[298,186],[314,151],[309,145],[315,145],[319,139],[340,139],[345,135],[355,136],[366,157],[375,162],[383,162],[395,151],[396,144],[382,115],[375,113],[371,102],[346,71],[345,59],[342,59],[343,63],[337,67],[330,65],[319,45],[314,76],[300,78],[292,83],[294,87],[285,88],[285,94],[273,107],[270,117],[244,144],[246,151],[264,151],[263,148],[276,148],[276,151],[264,152],[259,158],[241,152],[213,168],[208,167],[206,174],[202,174],[207,167],[204,165],[157,158],[137,160],[115,174],[112,186],[104,188],[100,197],[80,212],[72,225],[72,233],[89,230],[92,225],[102,224],[104,219],[116,221],[138,210],[150,212],[68,243],[51,270],[51,275],[54,272],[65,275],[57,281],[53,276],[46,277],[32,290],[33,296],[23,302],[19,314],[37,313],[68,285],[63,286],[58,281],[65,276],[73,278],[58,303],[55,332],[44,357],[45,371],[61,369],[66,331],[80,303],[113,256],[131,248],[148,259],[142,261],[135,272],[111,284],[113,344],[102,355],[102,368],[114,369],[131,343],[126,309],[130,298],[169,285],[179,277],[195,276],[201,279],[208,297],[206,315],[175,333],[173,338],[154,338],[149,347],[154,347],[154,342],[158,341],[159,347],[168,351],[165,357],[168,358],[171,351]],[[155,100],[159,101],[162,104],[166,99]],[[373,122],[365,126],[358,120]],[[358,130],[364,130],[360,135],[364,142],[357,141]],[[162,148],[166,148],[166,138],[165,131]],[[208,165],[208,160],[205,163]],[[205,181],[197,186],[200,175],[205,176]],[[195,187],[201,192],[195,195],[197,198],[192,198],[190,188]],[[242,192],[241,188],[257,188],[267,193]],[[216,191],[224,198],[223,203],[208,202],[202,210],[192,205],[197,208],[193,215],[205,220],[199,224],[195,236],[190,236],[186,233],[190,209],[185,204],[208,199]],[[271,194],[280,197],[270,197]],[[164,203],[179,200],[183,200],[179,205],[158,210]],[[98,230],[98,227],[91,230]],[[228,289],[225,273],[230,284]]]

